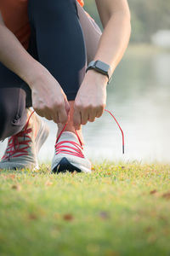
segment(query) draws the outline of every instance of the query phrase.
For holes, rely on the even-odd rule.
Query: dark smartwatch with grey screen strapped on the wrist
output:
[[[91,61],[88,64],[86,73],[88,70],[94,69],[95,71],[104,74],[108,77],[108,84],[111,82],[111,67],[103,61]]]

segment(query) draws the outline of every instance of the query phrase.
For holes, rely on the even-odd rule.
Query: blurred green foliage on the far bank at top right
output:
[[[133,43],[150,43],[151,36],[170,29],[170,0],[128,0],[132,17]],[[94,0],[85,0],[85,9],[101,27]]]

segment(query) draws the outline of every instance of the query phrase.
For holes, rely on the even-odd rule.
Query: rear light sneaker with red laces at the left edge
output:
[[[8,138],[8,145],[0,161],[0,169],[38,168],[37,154],[48,137],[48,126],[30,112],[26,126]]]

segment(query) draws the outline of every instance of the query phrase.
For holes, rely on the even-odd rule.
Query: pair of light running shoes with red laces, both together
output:
[[[25,127],[18,134],[8,138],[8,145],[0,161],[0,169],[38,169],[37,154],[48,137],[48,125],[39,119],[37,114],[28,110],[29,118]],[[122,131],[114,115],[116,124]],[[56,139],[54,158],[52,160],[52,172],[91,172],[91,162],[83,152],[82,141],[77,134],[63,130]],[[124,135],[122,131],[122,151],[124,154]]]

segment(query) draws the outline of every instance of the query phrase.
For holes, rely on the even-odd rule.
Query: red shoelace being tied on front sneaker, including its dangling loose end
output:
[[[105,109],[105,112],[111,114],[112,118],[115,119],[116,124],[118,125],[120,131],[122,132],[122,154],[124,154],[124,133],[122,131],[122,128],[119,125],[119,123],[117,122],[113,113],[111,113],[111,111]],[[60,131],[59,136],[56,139],[55,154],[59,154],[59,153],[61,153],[61,154],[71,154],[71,155],[74,155],[74,156],[77,156],[77,157],[84,158],[84,155],[82,154],[82,149],[83,149],[82,141],[81,141],[80,137],[78,136],[77,131],[76,131],[76,135],[77,135],[77,138],[78,138],[78,141],[79,141],[80,144],[75,143],[75,142],[71,142],[71,141],[62,141],[62,142],[58,143],[59,137],[61,137],[62,133],[65,131],[66,125],[67,124],[65,124],[62,131]],[[67,143],[67,144],[69,143],[69,144],[71,144],[71,146],[65,145],[65,143]]]

